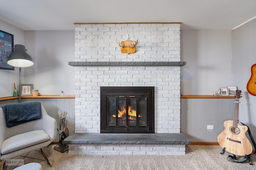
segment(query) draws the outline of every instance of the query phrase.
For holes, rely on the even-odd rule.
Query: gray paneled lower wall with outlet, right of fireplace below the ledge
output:
[[[180,130],[190,141],[216,142],[233,113],[234,99],[181,99]]]

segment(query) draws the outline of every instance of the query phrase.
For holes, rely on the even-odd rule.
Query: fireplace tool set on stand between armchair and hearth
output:
[[[69,131],[66,127],[66,115],[67,113],[64,111],[63,115],[61,115],[60,110],[58,110],[58,115],[60,117],[60,128],[58,130],[59,133],[59,142],[57,146],[54,146],[54,150],[57,150],[59,152],[66,152],[68,150],[68,146],[64,145],[62,141],[68,137]]]

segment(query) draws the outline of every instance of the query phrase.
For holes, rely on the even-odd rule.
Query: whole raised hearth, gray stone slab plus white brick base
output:
[[[69,154],[184,155],[190,140],[182,133],[73,133],[63,143]]]

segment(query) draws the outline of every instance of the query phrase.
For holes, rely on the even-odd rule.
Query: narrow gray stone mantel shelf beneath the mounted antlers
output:
[[[186,61],[156,61],[156,62],[84,62],[69,61],[68,65],[74,67],[100,67],[100,66],[183,66]]]

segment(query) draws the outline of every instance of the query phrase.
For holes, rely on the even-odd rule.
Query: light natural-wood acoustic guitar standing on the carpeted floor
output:
[[[226,151],[240,156],[252,153],[252,144],[246,137],[248,127],[238,124],[239,99],[241,91],[236,90],[233,121],[225,121],[225,129],[218,135],[218,142]]]

